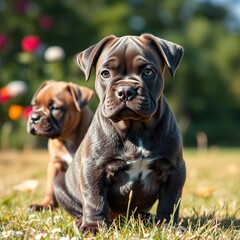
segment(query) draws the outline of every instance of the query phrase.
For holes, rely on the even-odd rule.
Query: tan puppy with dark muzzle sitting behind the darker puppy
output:
[[[43,201],[29,207],[30,211],[57,207],[53,194],[54,177],[66,171],[92,121],[93,113],[86,106],[93,91],[73,83],[47,81],[32,99],[32,113],[27,131],[49,138],[46,193]]]

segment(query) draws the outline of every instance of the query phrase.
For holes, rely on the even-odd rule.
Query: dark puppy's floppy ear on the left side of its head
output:
[[[113,35],[105,37],[99,43],[87,48],[86,50],[78,54],[77,63],[81,70],[83,71],[87,81],[90,77],[91,69],[93,66],[95,66],[102,49],[108,42],[115,38],[116,37]]]

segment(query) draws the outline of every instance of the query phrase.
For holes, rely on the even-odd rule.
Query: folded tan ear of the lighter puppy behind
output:
[[[91,89],[74,83],[68,83],[68,89],[78,111],[81,111],[91,101],[94,94]]]

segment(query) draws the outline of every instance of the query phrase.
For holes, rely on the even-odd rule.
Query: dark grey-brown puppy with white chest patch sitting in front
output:
[[[163,73],[167,66],[174,75],[182,56],[182,47],[150,34],[109,36],[79,54],[86,79],[96,69],[100,103],[54,192],[81,229],[96,231],[126,214],[129,196],[135,214],[158,200],[156,221],[173,215],[178,222],[186,169]]]

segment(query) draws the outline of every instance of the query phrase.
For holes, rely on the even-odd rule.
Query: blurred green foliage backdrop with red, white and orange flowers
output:
[[[103,37],[152,33],[185,55],[165,95],[186,147],[240,145],[237,0],[0,0],[0,148],[45,147],[26,132],[31,98],[47,79],[86,82],[76,54]],[[91,103],[98,104],[95,96]]]

